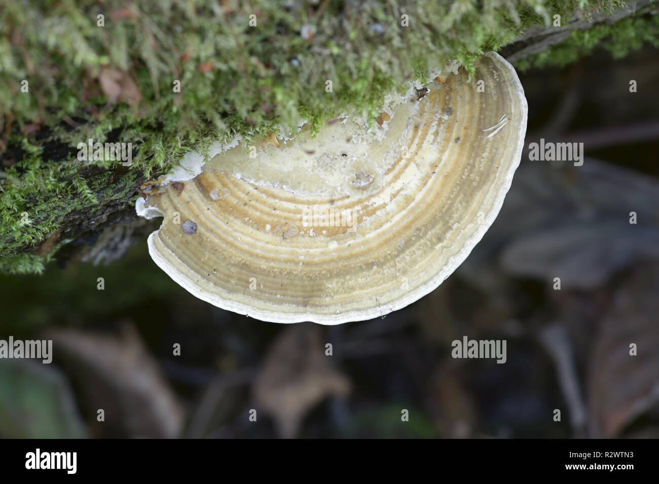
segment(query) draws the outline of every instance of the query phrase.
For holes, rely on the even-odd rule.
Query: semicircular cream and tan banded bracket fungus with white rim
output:
[[[340,117],[314,137],[303,125],[260,149],[188,153],[138,200],[164,217],[150,255],[194,296],[278,323],[360,321],[428,294],[499,213],[527,101],[494,52],[471,82],[460,68],[423,87],[370,126]]]

